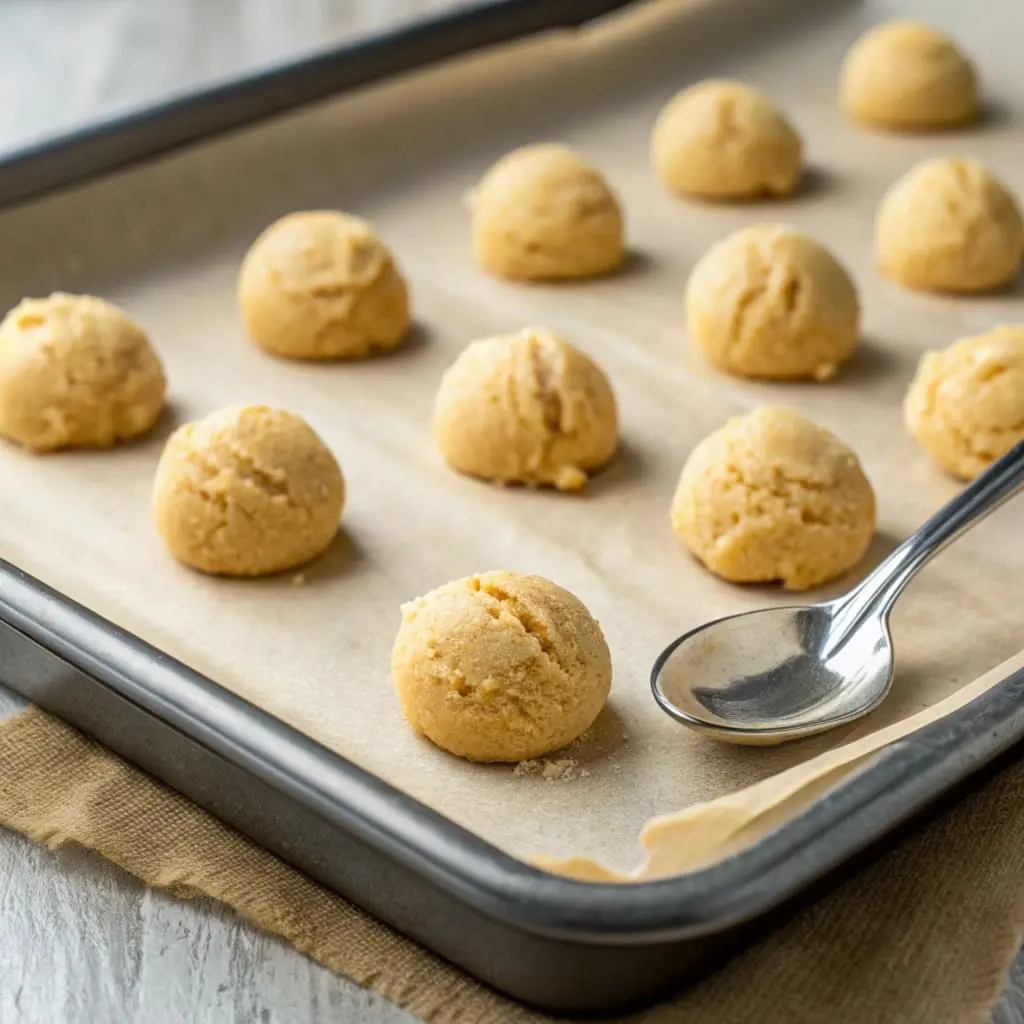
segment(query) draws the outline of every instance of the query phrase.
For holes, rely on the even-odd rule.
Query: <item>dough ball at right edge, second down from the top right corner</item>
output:
[[[886,193],[874,220],[879,269],[908,288],[990,291],[1017,275],[1022,250],[1020,207],[977,160],[918,164]]]

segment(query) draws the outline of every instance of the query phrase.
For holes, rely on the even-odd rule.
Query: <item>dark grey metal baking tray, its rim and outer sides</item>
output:
[[[0,200],[615,4],[473,7],[14,155]],[[612,1013],[699,977],[1024,739],[1024,671],[887,749],[752,848],[597,885],[502,852],[211,679],[0,562],[0,679],[285,860],[524,1001]]]

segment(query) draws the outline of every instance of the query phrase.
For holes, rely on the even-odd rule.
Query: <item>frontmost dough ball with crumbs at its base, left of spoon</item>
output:
[[[406,718],[470,761],[524,761],[590,727],[611,688],[597,621],[542,577],[484,572],[402,606],[391,668]]]

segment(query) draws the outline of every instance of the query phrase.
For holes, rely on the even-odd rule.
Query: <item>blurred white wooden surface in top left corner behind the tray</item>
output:
[[[0,145],[480,0],[0,0]]]

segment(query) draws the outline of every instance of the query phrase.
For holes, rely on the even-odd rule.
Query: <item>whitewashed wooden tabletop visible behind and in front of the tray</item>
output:
[[[0,0],[0,148],[459,2]],[[998,1024],[1022,988],[1019,963]],[[211,902],[0,830],[0,1024],[412,1020]]]

